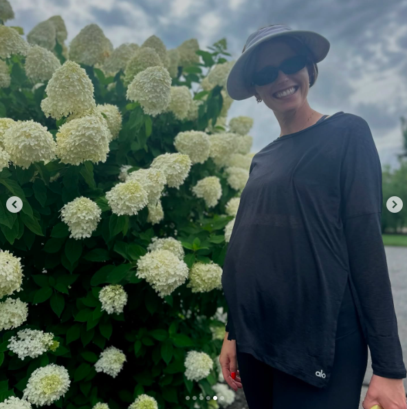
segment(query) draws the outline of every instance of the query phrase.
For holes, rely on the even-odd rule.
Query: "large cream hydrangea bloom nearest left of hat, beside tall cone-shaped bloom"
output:
[[[146,114],[157,116],[168,107],[171,81],[165,68],[147,67],[134,76],[127,88],[126,98],[140,103]]]

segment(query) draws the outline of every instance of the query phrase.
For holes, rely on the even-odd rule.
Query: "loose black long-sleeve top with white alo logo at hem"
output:
[[[360,116],[338,112],[257,152],[223,264],[228,338],[324,388],[349,280],[373,373],[405,378],[382,202],[380,158]]]

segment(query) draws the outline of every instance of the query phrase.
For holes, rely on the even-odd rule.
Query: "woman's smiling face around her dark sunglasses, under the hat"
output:
[[[267,65],[278,67],[283,61],[296,55],[287,43],[282,41],[273,41],[272,52],[267,52],[270,43],[263,44],[263,49],[258,54],[256,68],[254,72],[259,72]],[[285,90],[292,85],[298,87],[296,92],[285,98],[276,98],[275,93],[278,90]],[[283,71],[278,71],[276,81],[266,85],[254,85],[255,95],[261,98],[265,105],[275,112],[286,112],[298,109],[307,99],[309,90],[309,73],[307,66],[294,74],[285,74]]]

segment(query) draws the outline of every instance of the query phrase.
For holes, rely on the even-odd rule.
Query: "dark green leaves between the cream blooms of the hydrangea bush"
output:
[[[199,83],[202,67],[224,62],[222,55],[230,55],[225,48],[225,40],[221,40],[212,52],[199,50],[203,64],[179,67],[173,85]],[[56,54],[63,62],[59,44]],[[33,90],[23,62],[20,56],[7,60],[12,83],[0,90],[0,116],[34,119],[55,135],[63,120],[45,118],[40,103],[46,84]],[[203,351],[217,359],[221,341],[212,340],[209,325],[217,308],[225,307],[223,295],[219,290],[191,293],[184,284],[162,300],[145,280],[136,277],[136,263],[147,252],[151,238],[174,237],[176,230],[188,267],[210,260],[222,266],[224,228],[232,217],[219,214],[224,213],[225,203],[236,191],[228,187],[211,160],[194,165],[179,189],[166,187],[168,194],[162,197],[165,218],[154,225],[146,222],[147,209],[131,217],[111,213],[104,192],[118,182],[122,165],[146,168],[159,154],[175,152],[173,140],[178,132],[214,125],[223,103],[221,87],[195,94],[196,99],[207,95],[199,118],[180,122],[170,113],[148,116],[140,104],[129,103],[122,72],[113,78],[94,67],[83,67],[94,83],[96,103],[117,105],[123,116],[122,130],[110,144],[107,161],[71,166],[54,160],[35,163],[29,169],[10,165],[0,172],[1,248],[23,260],[25,276],[17,297],[29,304],[28,321],[1,334],[0,401],[12,395],[21,397],[33,370],[56,363],[67,368],[72,380],[65,397],[56,401],[58,408],[90,409],[97,401],[105,401],[109,408],[119,409],[144,392],[157,399],[159,408],[192,408],[194,402],[186,401],[185,396],[201,392],[214,395],[210,386],[217,374],[212,370],[199,383],[188,381],[184,359],[188,350]],[[115,86],[108,88],[111,83]],[[203,200],[192,195],[190,187],[210,175],[221,179],[223,196],[216,207],[208,209]],[[21,212],[7,211],[5,202],[10,196],[23,200]],[[83,240],[69,237],[60,216],[64,204],[79,196],[95,200],[102,209],[98,229]],[[124,286],[129,296],[124,313],[102,311],[98,294],[107,284]],[[19,359],[8,350],[7,342],[26,326],[54,333],[58,348],[34,359]],[[126,355],[115,378],[96,373],[94,368],[107,346],[115,346]],[[207,405],[206,401],[200,404]]]

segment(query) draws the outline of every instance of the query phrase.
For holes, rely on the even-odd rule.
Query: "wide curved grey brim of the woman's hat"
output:
[[[239,56],[239,58],[232,66],[232,69],[230,70],[228,75],[228,80],[226,82],[226,90],[228,90],[228,94],[231,98],[236,101],[241,101],[243,99],[254,96],[254,90],[250,90],[244,76],[246,62],[248,61],[248,59],[250,59],[253,50],[255,50],[259,46],[259,44],[263,43],[264,41],[275,39],[281,36],[294,36],[302,41],[305,45],[307,45],[312,54],[314,63],[319,63],[320,61],[325,59],[331,46],[329,41],[324,36],[313,31],[290,30],[279,32],[277,34],[271,33],[270,35],[264,36],[263,38],[250,45],[250,47],[246,48],[243,54]]]

